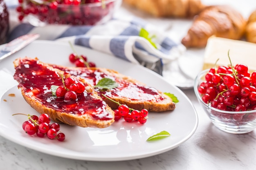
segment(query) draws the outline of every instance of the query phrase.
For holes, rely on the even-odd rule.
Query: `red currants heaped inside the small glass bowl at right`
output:
[[[245,64],[211,68],[198,88],[202,100],[213,108],[226,111],[256,109],[256,72]]]

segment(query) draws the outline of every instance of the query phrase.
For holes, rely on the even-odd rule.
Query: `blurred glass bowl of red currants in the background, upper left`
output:
[[[122,0],[18,0],[18,19],[34,26],[96,25],[110,20]]]

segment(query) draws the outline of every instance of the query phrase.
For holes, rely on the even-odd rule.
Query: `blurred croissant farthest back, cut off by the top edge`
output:
[[[201,0],[123,0],[124,3],[155,17],[189,18],[205,7]]]

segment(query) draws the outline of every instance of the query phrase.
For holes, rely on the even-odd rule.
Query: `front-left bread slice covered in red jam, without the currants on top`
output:
[[[38,113],[47,113],[50,118],[56,122],[63,122],[65,124],[81,127],[106,128],[114,122],[115,113],[113,110],[102,100],[101,97],[99,97],[92,86],[83,79],[73,76],[76,81],[80,81],[85,84],[86,90],[80,95],[81,98],[78,98],[78,101],[72,101],[65,106],[65,102],[62,100],[58,102],[57,99],[54,100],[53,97],[49,97],[52,93],[49,92],[49,84],[51,84],[51,82],[55,82],[56,85],[60,85],[62,83],[61,75],[65,75],[65,77],[72,77],[70,74],[40,62],[37,58],[18,58],[13,62],[13,64],[16,69],[14,79],[19,83],[18,88],[21,89],[22,96]],[[38,67],[38,70],[34,69],[36,67]],[[49,73],[52,75],[47,75]],[[61,83],[59,84],[58,81]],[[42,88],[39,86],[43,86],[43,89],[47,91],[47,93],[42,91]],[[47,95],[48,101],[43,98]],[[90,101],[83,99],[85,98],[83,96],[86,96],[86,99],[90,99]],[[83,99],[84,101],[82,102],[85,102],[85,104],[82,102],[79,103],[79,99]],[[52,101],[54,101],[53,104]],[[90,102],[90,104],[96,108],[87,107],[86,102]],[[72,109],[75,109],[76,112],[74,112],[74,110],[72,111]]]

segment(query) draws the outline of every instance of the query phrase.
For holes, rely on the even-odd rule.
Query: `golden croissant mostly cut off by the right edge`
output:
[[[256,43],[256,10],[248,18],[245,37],[248,42]]]

